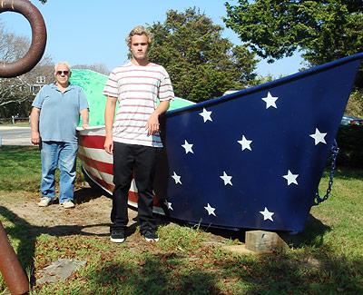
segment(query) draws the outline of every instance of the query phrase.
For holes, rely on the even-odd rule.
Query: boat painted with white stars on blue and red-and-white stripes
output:
[[[362,58],[166,113],[155,211],[211,227],[302,231]],[[104,127],[79,135],[85,174],[111,194]],[[132,207],[136,192],[132,182]]]

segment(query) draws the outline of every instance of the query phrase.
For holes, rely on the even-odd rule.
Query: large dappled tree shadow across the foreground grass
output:
[[[109,294],[361,294],[363,262],[329,249],[298,255],[225,256],[201,261],[154,254],[100,265],[87,273],[91,293]]]

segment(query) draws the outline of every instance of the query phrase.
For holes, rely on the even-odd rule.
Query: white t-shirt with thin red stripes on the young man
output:
[[[113,123],[114,142],[162,147],[160,134],[148,135],[145,129],[158,99],[162,102],[174,98],[169,74],[162,65],[141,66],[129,62],[116,67],[109,75],[103,94],[119,101]]]

